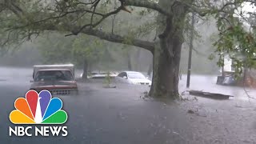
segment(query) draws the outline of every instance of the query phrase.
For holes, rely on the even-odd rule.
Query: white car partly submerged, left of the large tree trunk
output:
[[[151,86],[151,81],[142,73],[137,71],[123,71],[116,77],[117,80],[134,85],[148,85]]]

